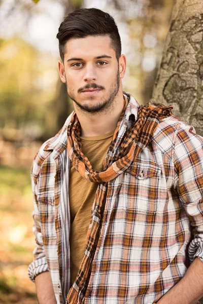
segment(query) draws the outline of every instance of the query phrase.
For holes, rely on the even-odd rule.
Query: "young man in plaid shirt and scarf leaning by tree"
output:
[[[189,304],[203,295],[203,140],[123,93],[114,19],[71,13],[58,69],[75,111],[32,166],[40,304]],[[190,266],[189,266],[190,264]]]

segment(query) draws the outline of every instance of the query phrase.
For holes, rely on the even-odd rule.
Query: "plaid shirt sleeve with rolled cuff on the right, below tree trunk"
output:
[[[189,258],[203,261],[203,138],[185,124],[177,132],[174,169],[175,187],[193,228]]]

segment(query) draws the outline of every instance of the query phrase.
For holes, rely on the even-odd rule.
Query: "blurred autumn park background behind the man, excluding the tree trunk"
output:
[[[172,0],[0,0],[0,302],[37,304],[27,277],[32,235],[30,167],[73,110],[59,80],[56,34],[77,8],[115,18],[127,57],[124,91],[150,101]]]

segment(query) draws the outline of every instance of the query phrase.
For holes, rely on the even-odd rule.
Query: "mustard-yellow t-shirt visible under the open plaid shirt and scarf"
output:
[[[82,152],[94,171],[103,169],[103,161],[109,150],[114,132],[96,137],[81,136]],[[91,209],[97,182],[83,178],[71,162],[69,198],[71,212],[71,282],[74,283],[85,252],[85,241],[90,223]]]

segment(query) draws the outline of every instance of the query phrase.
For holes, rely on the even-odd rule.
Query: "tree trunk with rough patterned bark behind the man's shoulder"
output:
[[[203,1],[176,1],[152,97],[203,135]]]

